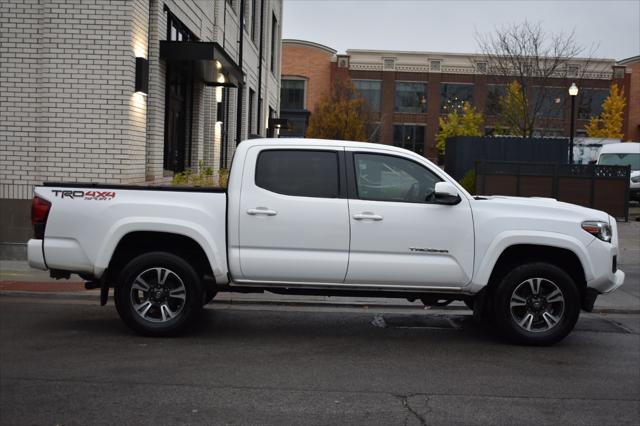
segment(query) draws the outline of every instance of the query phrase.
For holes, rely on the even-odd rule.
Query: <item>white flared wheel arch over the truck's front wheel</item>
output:
[[[584,270],[587,281],[593,278],[594,273],[589,262],[589,254],[584,244],[577,238],[565,234],[545,231],[504,231],[495,236],[485,251],[484,256],[476,256],[473,280],[471,285],[475,291],[486,286],[500,255],[509,247],[515,245],[537,245],[562,248],[573,252]],[[480,250],[477,249],[479,252]]]

